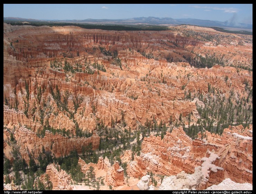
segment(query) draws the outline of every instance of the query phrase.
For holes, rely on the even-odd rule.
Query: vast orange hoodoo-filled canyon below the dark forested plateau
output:
[[[48,157],[34,186],[53,190],[252,184],[252,68],[252,35],[3,23],[4,161]]]

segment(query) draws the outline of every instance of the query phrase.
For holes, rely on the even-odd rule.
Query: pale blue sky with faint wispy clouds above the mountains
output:
[[[253,23],[253,4],[4,4],[3,17],[31,19],[194,18]]]

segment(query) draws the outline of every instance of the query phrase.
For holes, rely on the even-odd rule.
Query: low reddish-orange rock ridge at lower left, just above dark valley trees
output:
[[[46,152],[52,152],[56,157],[59,157],[68,155],[74,149],[78,153],[82,153],[82,147],[89,146],[90,144],[93,149],[97,149],[100,142],[100,138],[96,133],[93,133],[89,138],[68,138],[57,133],[53,135],[49,131],[46,131],[45,136],[42,138],[24,126],[15,130],[15,138],[17,144],[20,146],[21,156],[27,163],[29,162],[29,155],[31,153],[33,153],[33,158],[37,159],[39,157],[39,154],[42,153],[43,146]],[[8,150],[4,149],[4,153],[10,159],[11,155]]]

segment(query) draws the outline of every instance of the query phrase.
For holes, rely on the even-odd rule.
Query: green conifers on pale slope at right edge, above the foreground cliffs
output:
[[[245,84],[246,85],[246,84]],[[190,126],[190,116],[188,116],[189,127],[185,128],[185,132],[191,138],[195,138],[196,134],[202,130],[208,130],[211,133],[222,134],[223,129],[229,125],[240,125],[244,127],[252,123],[252,89],[248,87],[248,97],[236,98],[234,91],[230,91],[229,98],[222,96],[219,90],[208,84],[208,95],[203,97],[199,95],[199,99],[204,102],[204,107],[196,106],[199,115],[196,125]],[[214,95],[212,95],[214,94]]]

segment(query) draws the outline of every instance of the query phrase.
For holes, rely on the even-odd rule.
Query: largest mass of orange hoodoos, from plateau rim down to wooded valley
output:
[[[117,123],[125,121],[131,129],[136,129],[138,123],[144,124],[147,119],[155,119],[158,123],[162,120],[167,124],[170,117],[175,121],[180,113],[183,117],[193,113],[192,119],[196,122],[199,117],[195,101],[186,100],[184,91],[206,94],[209,92],[209,83],[222,94],[235,90],[241,97],[245,95],[247,98],[244,93],[245,81],[252,86],[252,75],[249,71],[237,72],[234,67],[219,65],[198,69],[184,62],[187,57],[195,57],[191,52],[192,48],[196,51],[200,46],[203,47],[205,55],[206,50],[213,50],[212,46],[207,45],[209,42],[204,45],[202,41],[194,39],[196,37],[177,35],[178,27],[173,27],[172,32],[110,33],[71,26],[51,28],[10,26],[6,23],[3,26],[3,84],[9,107],[4,107],[4,124],[22,123],[34,132],[41,130],[43,125],[48,123],[54,128],[66,128],[73,134],[77,124],[84,131],[92,131],[101,120],[110,126],[111,118]],[[28,30],[29,32],[26,32]],[[210,33],[219,36],[214,31],[210,30]],[[229,38],[228,35],[222,36]],[[246,61],[246,65],[250,64],[250,38],[233,38],[237,39],[236,42],[248,39],[247,44],[242,47],[243,54],[248,56],[248,59],[231,59],[229,51],[236,52],[236,49],[232,49],[234,45],[228,41],[223,41],[223,44],[229,45],[230,48],[220,45],[214,47],[218,49],[218,56],[222,56],[224,52],[226,55],[223,57],[231,63],[241,60]],[[173,48],[178,46],[179,49],[177,48],[175,53],[168,51],[166,44]],[[117,51],[121,67],[113,63],[113,57],[103,55],[103,48],[111,52]],[[137,52],[138,50],[152,52],[158,60],[148,59],[141,55],[141,52]],[[74,57],[77,52],[79,56]],[[165,58],[168,54],[176,61],[183,62],[167,62]],[[217,56],[215,50],[214,54]],[[61,64],[62,68],[52,67],[50,64],[54,61]],[[65,72],[65,61],[74,69],[80,64],[82,72]],[[85,64],[94,62],[103,65],[106,72],[95,68],[94,74],[83,71]],[[228,79],[225,80],[225,77]],[[61,94],[60,100],[67,105],[68,111],[53,98],[57,86]],[[45,118],[40,122],[39,110],[45,106]],[[27,112],[27,115],[23,114],[24,112]]]

